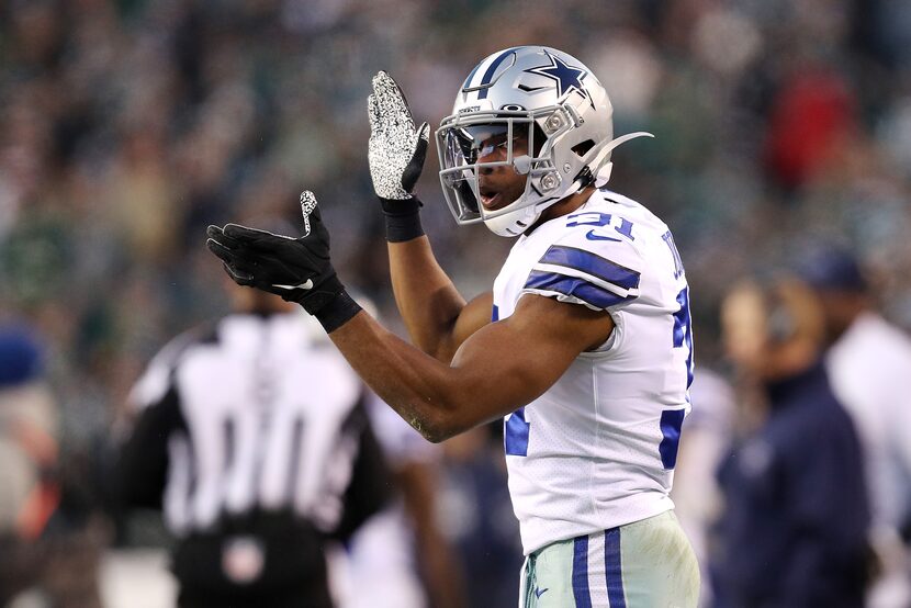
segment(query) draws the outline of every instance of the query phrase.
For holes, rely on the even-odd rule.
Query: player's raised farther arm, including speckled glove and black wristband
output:
[[[420,226],[413,194],[427,155],[427,123],[415,126],[398,85],[385,72],[373,78],[368,98],[368,158],[373,188],[386,218],[390,273],[395,302],[414,344],[443,362],[490,322],[492,297],[470,305],[437,263]]]

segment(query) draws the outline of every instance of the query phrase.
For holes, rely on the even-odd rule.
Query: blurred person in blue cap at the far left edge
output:
[[[63,504],[57,404],[21,325],[0,326],[0,605],[27,592],[38,606],[100,606],[100,542]]]

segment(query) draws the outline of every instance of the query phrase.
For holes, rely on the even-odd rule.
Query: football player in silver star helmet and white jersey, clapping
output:
[[[519,240],[493,293],[465,302],[412,193],[427,124],[385,72],[369,113],[393,289],[418,348],[347,295],[310,192],[303,237],[211,226],[210,249],[238,283],[316,316],[429,440],[506,417],[524,606],[695,606],[698,567],[668,497],[693,374],[686,278],[667,226],[604,189],[611,150],[648,134],[615,139],[607,93],[565,53],[479,64],[436,134],[440,181],[457,222]]]

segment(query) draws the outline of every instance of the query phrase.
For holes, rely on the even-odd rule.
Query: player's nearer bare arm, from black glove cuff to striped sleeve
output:
[[[329,338],[409,425],[430,441],[442,441],[540,396],[612,327],[605,312],[526,295],[510,317],[469,337],[451,365],[407,345],[365,313]]]

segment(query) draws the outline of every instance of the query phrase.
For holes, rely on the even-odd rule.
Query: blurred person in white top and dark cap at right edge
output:
[[[911,338],[876,312],[873,289],[847,250],[816,251],[803,274],[825,315],[832,389],[857,426],[867,462],[884,570],[868,606],[909,606],[911,570],[899,531],[911,519]]]

